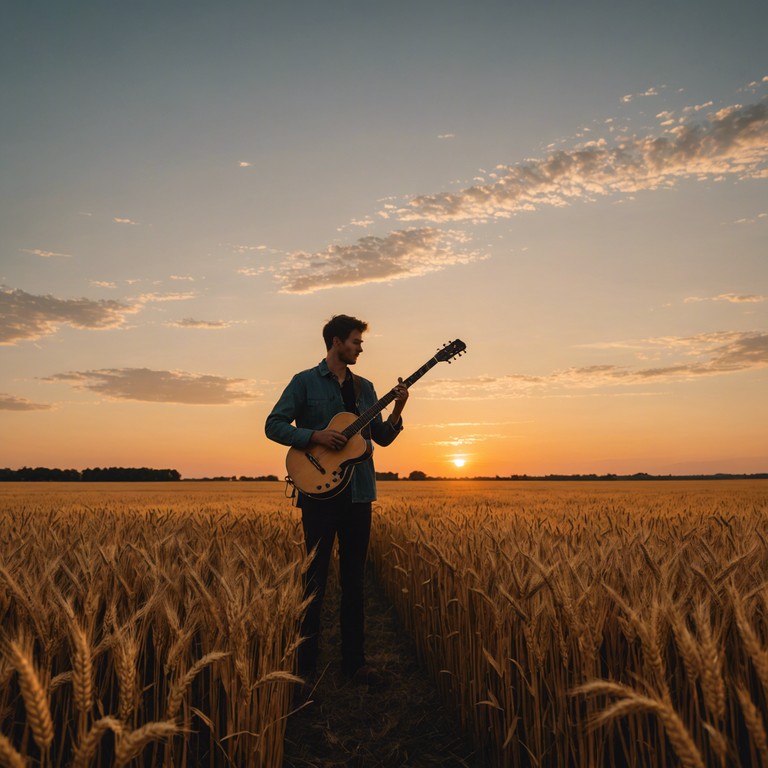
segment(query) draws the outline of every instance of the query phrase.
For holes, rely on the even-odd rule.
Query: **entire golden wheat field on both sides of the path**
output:
[[[0,764],[283,761],[272,483],[0,487]],[[768,484],[380,484],[371,566],[484,766],[768,765]]]

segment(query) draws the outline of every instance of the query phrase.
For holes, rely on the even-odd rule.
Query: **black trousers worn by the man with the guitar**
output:
[[[314,598],[301,625],[301,634],[306,639],[299,646],[299,674],[311,674],[317,665],[320,613],[337,536],[342,667],[347,674],[353,674],[365,664],[363,580],[371,535],[371,504],[353,504],[349,487],[332,499],[302,496],[299,503],[307,552],[317,548],[304,580],[304,597]]]

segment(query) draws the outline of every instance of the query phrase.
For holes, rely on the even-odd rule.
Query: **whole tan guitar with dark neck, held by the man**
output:
[[[410,388],[438,363],[450,363],[466,349],[467,345],[460,339],[449,342],[402,383]],[[326,429],[341,432],[347,438],[347,442],[339,450],[324,445],[290,448],[285,458],[288,482],[313,499],[329,499],[340,493],[352,479],[355,464],[365,461],[373,453],[373,444],[363,437],[362,431],[394,399],[395,390],[392,388],[359,416],[345,411],[337,413]]]

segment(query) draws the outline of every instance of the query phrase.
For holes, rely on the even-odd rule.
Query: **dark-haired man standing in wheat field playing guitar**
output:
[[[314,368],[297,373],[267,417],[265,431],[270,440],[296,448],[325,446],[339,450],[347,439],[339,431],[327,429],[332,417],[342,411],[361,414],[378,398],[373,384],[353,374],[363,351],[367,323],[348,315],[335,315],[323,328],[327,354]],[[389,445],[403,428],[401,414],[408,399],[408,388],[399,379],[395,405],[384,420],[379,413],[365,428],[379,445]],[[302,623],[299,647],[299,674],[311,677],[317,666],[320,612],[328,565],[334,540],[339,540],[341,582],[341,657],[342,669],[350,679],[376,684],[380,675],[370,667],[364,650],[363,577],[371,532],[371,502],[376,500],[376,474],[369,457],[355,465],[351,481],[337,495],[315,499],[299,493],[301,522],[307,552],[315,557],[305,577],[304,595],[314,595]]]

